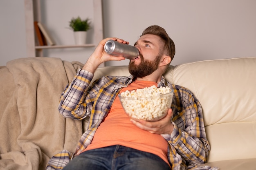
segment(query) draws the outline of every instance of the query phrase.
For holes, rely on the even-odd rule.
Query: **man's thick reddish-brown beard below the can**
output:
[[[141,62],[137,65],[134,61],[129,63],[129,72],[135,77],[146,77],[157,70],[162,55],[157,55],[155,60],[145,60],[142,54],[139,54]]]

